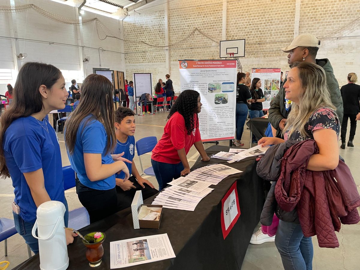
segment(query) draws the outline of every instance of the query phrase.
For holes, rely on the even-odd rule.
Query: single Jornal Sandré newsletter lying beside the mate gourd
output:
[[[111,269],[175,257],[166,233],[110,242]]]

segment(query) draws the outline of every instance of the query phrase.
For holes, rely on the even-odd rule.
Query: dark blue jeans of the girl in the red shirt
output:
[[[177,179],[181,176],[181,171],[184,170],[183,163],[169,164],[164,162],[158,162],[151,159],[151,165],[154,169],[156,180],[159,184],[159,191],[161,191],[167,183],[171,182],[172,179]]]

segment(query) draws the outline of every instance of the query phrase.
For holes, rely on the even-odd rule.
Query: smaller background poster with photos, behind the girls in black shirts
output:
[[[261,89],[264,93],[265,102],[262,103],[263,109],[270,108],[270,102],[280,90],[281,68],[252,68],[251,81],[254,78],[261,80]]]

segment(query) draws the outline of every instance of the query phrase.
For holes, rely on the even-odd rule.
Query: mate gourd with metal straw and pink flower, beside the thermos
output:
[[[101,264],[101,259],[104,255],[104,248],[102,243],[105,240],[105,234],[102,232],[92,232],[84,236],[82,243],[86,247],[86,259],[89,261],[91,267],[96,267]]]

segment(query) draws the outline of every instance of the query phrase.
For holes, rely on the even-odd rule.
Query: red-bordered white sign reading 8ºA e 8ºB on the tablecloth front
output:
[[[221,229],[224,239],[228,236],[240,216],[237,181],[231,186],[221,200]]]

